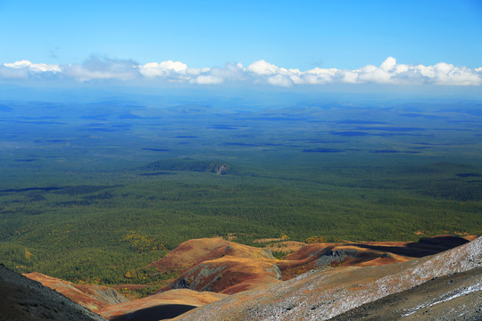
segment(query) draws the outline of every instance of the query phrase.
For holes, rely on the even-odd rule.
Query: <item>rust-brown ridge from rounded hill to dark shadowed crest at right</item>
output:
[[[279,283],[312,268],[378,266],[420,258],[469,242],[440,235],[418,243],[315,243],[283,259],[270,251],[216,238],[189,240],[146,268],[180,276],[162,291],[187,288],[233,294],[260,285]]]

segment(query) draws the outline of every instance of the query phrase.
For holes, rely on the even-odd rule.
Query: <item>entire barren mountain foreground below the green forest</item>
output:
[[[441,311],[441,307],[453,302],[467,305],[473,300],[476,305],[470,309],[451,308],[460,312],[459,315],[465,313],[464,316],[471,317],[482,309],[479,295],[482,291],[482,238],[468,243],[474,238],[440,235],[420,239],[418,243],[296,243],[298,250],[283,259],[274,259],[269,250],[220,237],[190,240],[148,266],[157,273],[177,272],[180,276],[160,292],[133,301],[106,286],[71,284],[35,272],[25,276],[112,321],[178,316],[182,320],[322,320],[338,317],[341,321],[362,315],[377,319],[386,312],[386,305],[394,302],[399,302],[396,305],[398,315],[383,315],[381,318],[405,314],[408,319],[415,319],[427,309],[432,311],[432,316],[442,316],[437,309]],[[446,251],[457,245],[461,246]],[[439,252],[442,253],[434,255]],[[432,256],[427,256],[430,254]],[[2,301],[2,304],[9,304],[9,307],[4,305],[5,315],[10,316],[8,320],[17,319],[12,317],[13,313],[33,317],[20,317],[25,320],[49,317],[55,320],[59,316],[63,318],[58,319],[84,320],[78,317],[82,312],[62,314],[59,312],[62,309],[57,308],[49,312],[56,299],[49,303],[42,299],[43,294],[38,298],[35,295],[33,299],[31,294],[37,293],[37,287],[44,292],[52,291],[4,270],[0,270],[4,272],[0,273],[0,281],[21,277],[23,283],[37,284],[25,290],[12,290],[10,285],[2,285],[2,293],[9,295],[8,300]],[[468,277],[463,279],[464,283],[458,282],[463,277],[455,274],[464,271]],[[437,277],[441,277],[440,282],[445,282],[444,276],[452,277],[452,285],[446,287],[446,293],[439,286],[439,292],[429,294],[425,300],[396,299],[402,295],[420,298],[415,289],[423,289],[428,280]],[[420,284],[423,285],[418,287]],[[390,299],[392,297],[395,299]],[[448,302],[447,298],[451,301]],[[61,304],[67,303],[63,301]],[[71,304],[74,303],[67,305]],[[87,314],[87,319],[89,316],[99,319],[93,314]]]

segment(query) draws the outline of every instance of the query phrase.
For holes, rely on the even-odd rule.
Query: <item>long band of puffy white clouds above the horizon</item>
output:
[[[20,61],[0,65],[4,79],[71,79],[76,82],[99,80],[154,83],[178,82],[195,85],[248,83],[271,86],[322,86],[325,84],[394,84],[481,86],[482,67],[470,69],[438,62],[432,66],[398,64],[388,57],[379,66],[367,65],[356,70],[314,68],[287,69],[260,60],[247,67],[227,63],[224,67],[189,68],[184,62],[148,62],[90,57],[82,64],[46,64]]]

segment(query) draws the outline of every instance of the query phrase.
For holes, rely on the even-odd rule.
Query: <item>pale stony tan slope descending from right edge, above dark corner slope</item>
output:
[[[482,237],[436,255],[373,267],[319,268],[239,292],[176,320],[326,320],[436,277],[482,267]]]

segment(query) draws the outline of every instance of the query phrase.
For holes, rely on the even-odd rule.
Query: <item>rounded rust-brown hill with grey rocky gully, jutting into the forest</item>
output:
[[[186,288],[231,294],[279,282],[281,274],[274,260],[270,251],[216,237],[181,243],[147,268],[181,273],[162,291]]]

